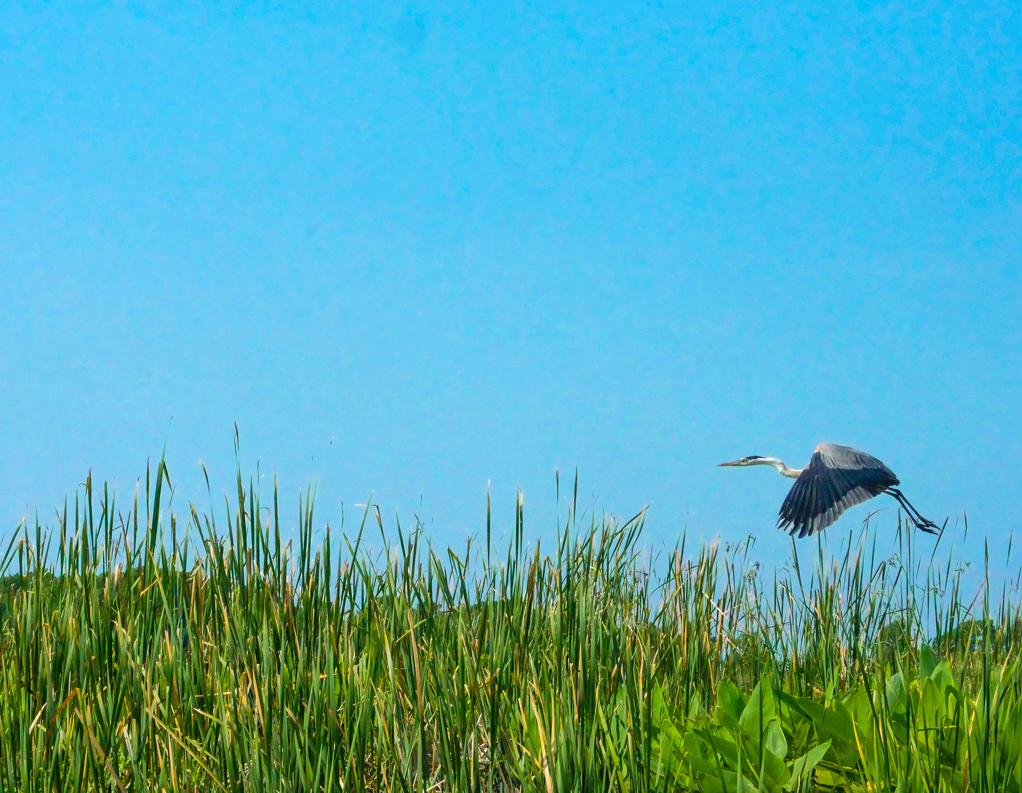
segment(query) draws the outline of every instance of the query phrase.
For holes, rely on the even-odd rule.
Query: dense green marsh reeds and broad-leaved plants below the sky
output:
[[[748,543],[650,569],[642,515],[574,498],[527,550],[519,499],[500,554],[487,516],[373,555],[376,510],[317,541],[306,498],[295,548],[276,492],[239,475],[218,525],[168,483],[123,513],[90,479],[12,540],[4,790],[1022,791],[1017,606],[908,534],[764,582]]]

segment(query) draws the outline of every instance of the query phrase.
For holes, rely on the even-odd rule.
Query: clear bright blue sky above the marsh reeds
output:
[[[5,6],[4,533],[165,442],[175,507],[199,459],[217,499],[236,422],[320,525],[372,492],[461,541],[491,481],[549,538],[577,467],[654,544],[769,559],[790,483],[714,464],[829,440],[1005,548],[1013,7]]]

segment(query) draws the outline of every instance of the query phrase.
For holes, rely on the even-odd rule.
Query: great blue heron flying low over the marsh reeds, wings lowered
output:
[[[886,493],[894,496],[916,528],[928,534],[939,534],[940,527],[927,521],[895,485],[900,483],[894,472],[865,451],[833,443],[822,443],[809,464],[801,470],[789,468],[777,457],[750,455],[727,465],[773,465],[785,477],[795,480],[781,504],[778,529],[789,531],[792,537],[811,537],[837,521],[849,506],[869,501]]]

